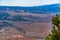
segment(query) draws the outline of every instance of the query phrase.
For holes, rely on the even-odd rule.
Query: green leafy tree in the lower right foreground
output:
[[[52,18],[52,31],[46,37],[46,40],[60,40],[60,16],[57,14]]]

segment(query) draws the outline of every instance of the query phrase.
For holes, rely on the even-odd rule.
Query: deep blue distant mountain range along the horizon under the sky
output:
[[[57,13],[60,12],[60,4],[51,4],[44,6],[32,6],[32,7],[21,7],[21,6],[0,6],[0,10],[13,10],[15,12],[25,13]]]

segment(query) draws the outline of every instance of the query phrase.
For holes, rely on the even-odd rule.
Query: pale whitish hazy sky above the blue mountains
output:
[[[39,6],[60,3],[60,0],[0,0],[0,5],[7,6]]]

